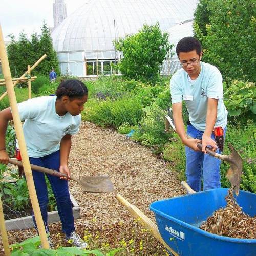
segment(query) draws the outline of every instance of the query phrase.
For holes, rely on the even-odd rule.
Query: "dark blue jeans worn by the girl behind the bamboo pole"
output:
[[[29,158],[31,164],[35,164],[38,166],[46,167],[49,169],[59,170],[60,166],[60,151],[56,151],[50,155],[40,157],[40,158]],[[38,198],[42,220],[44,221],[46,231],[47,228],[47,204],[48,204],[48,191],[47,184],[45,180],[45,174],[37,172],[36,170],[32,170],[33,180],[35,183],[36,195]],[[62,223],[62,231],[63,233],[70,235],[71,232],[75,230],[74,227],[74,217],[72,211],[72,202],[70,200],[69,187],[67,180],[61,180],[59,177],[52,176],[46,174],[48,180],[50,181],[53,194],[55,196],[58,214]],[[34,214],[33,221],[35,223]],[[36,227],[37,228],[37,227]]]

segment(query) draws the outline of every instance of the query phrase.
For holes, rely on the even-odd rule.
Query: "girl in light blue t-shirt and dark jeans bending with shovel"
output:
[[[55,96],[37,97],[18,104],[20,119],[31,164],[58,170],[70,177],[68,159],[71,136],[79,130],[81,111],[88,98],[88,89],[79,80],[66,80],[59,84]],[[5,134],[8,121],[12,120],[11,109],[0,112],[0,163],[8,164],[5,150]],[[33,170],[33,180],[42,214],[47,228],[48,193],[45,174]],[[72,203],[68,180],[46,175],[57,202],[58,214],[65,239],[81,249],[87,247],[75,232]],[[35,219],[33,216],[35,223]],[[35,224],[36,226],[36,224]]]

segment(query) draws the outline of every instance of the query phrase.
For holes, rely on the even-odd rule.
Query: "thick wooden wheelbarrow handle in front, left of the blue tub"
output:
[[[157,225],[149,219],[140,209],[138,209],[135,205],[129,203],[121,194],[116,194],[117,200],[126,207],[126,209],[130,212],[130,214],[138,221],[145,226],[146,229],[150,230],[153,233],[153,236],[170,252],[172,252],[175,256],[178,256],[177,252],[175,252],[172,248],[170,248],[162,239],[161,234],[158,231]]]

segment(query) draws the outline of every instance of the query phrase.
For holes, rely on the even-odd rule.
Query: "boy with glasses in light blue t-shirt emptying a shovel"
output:
[[[223,150],[227,110],[222,99],[222,75],[215,66],[201,61],[202,47],[194,37],[181,39],[176,53],[182,69],[170,79],[170,90],[175,127],[185,145],[187,183],[195,191],[201,190],[202,180],[204,190],[219,188],[221,160],[205,154],[205,147],[218,153]],[[189,114],[187,132],[182,118],[183,100]]]

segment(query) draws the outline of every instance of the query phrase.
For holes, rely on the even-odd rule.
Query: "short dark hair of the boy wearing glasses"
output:
[[[176,53],[179,58],[180,52],[191,52],[196,50],[197,54],[200,55],[202,51],[201,43],[198,39],[192,36],[187,36],[179,40],[176,46]]]

